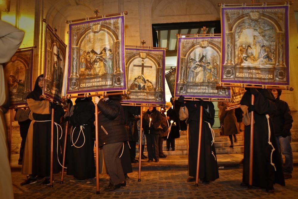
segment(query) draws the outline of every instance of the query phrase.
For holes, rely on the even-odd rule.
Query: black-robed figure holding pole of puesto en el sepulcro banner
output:
[[[254,95],[254,105],[251,105],[251,94]],[[277,148],[274,128],[271,116],[276,111],[274,97],[267,89],[247,89],[241,101],[241,109],[244,113],[244,159],[243,159],[243,179],[241,185],[249,184],[249,144],[250,144],[250,112],[254,111],[254,146],[253,146],[253,167],[252,167],[252,186],[265,188],[267,191],[274,191],[273,184],[285,185],[281,157]],[[268,143],[268,121],[266,114],[269,115],[270,142]],[[270,116],[271,115],[271,116]],[[274,151],[271,152],[272,146]],[[271,164],[272,163],[272,164]],[[275,170],[276,169],[276,170]]]

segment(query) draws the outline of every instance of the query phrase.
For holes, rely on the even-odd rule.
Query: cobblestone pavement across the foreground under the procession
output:
[[[141,182],[138,172],[128,174],[127,185],[114,192],[105,192],[108,175],[100,175],[100,195],[96,195],[96,183],[69,182],[72,177],[65,176],[63,184],[54,176],[54,186],[42,186],[38,181],[28,186],[20,186],[26,178],[21,172],[12,172],[15,198],[297,198],[298,166],[294,167],[293,178],[286,180],[286,186],[275,185],[275,193],[264,189],[241,187],[242,169],[219,170],[220,178],[209,185],[195,187],[194,182],[186,182],[185,170],[142,171]]]

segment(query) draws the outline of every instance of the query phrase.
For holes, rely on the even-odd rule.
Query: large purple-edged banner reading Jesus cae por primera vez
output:
[[[124,16],[69,25],[66,94],[125,90]]]

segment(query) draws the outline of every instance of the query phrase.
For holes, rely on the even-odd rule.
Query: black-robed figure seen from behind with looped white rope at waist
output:
[[[72,125],[67,175],[86,180],[95,177],[95,106],[91,97],[77,98],[74,108],[72,116],[66,117]]]

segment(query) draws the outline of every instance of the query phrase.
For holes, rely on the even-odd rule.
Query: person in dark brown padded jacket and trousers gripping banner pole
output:
[[[125,129],[124,111],[120,104],[121,95],[109,95],[100,100],[94,98],[99,109],[98,113],[98,143],[103,147],[105,167],[110,176],[110,184],[105,191],[114,191],[125,186],[125,177],[119,158],[124,142],[128,141]]]

